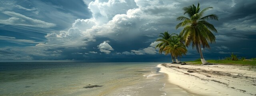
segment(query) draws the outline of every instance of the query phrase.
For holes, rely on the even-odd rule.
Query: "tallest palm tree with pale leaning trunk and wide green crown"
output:
[[[215,42],[215,36],[212,34],[213,32],[217,33],[216,28],[209,22],[208,20],[218,20],[218,16],[215,14],[210,14],[207,16],[203,16],[206,10],[212,9],[212,7],[204,8],[200,10],[200,6],[195,6],[194,4],[188,7],[184,7],[184,15],[188,14],[189,18],[185,16],[179,16],[177,21],[182,21],[176,25],[176,29],[180,27],[184,27],[180,34],[185,39],[185,45],[188,46],[190,42],[192,42],[192,48],[196,46],[196,50],[200,53],[202,64],[206,64],[206,60],[202,54],[202,48],[209,48],[210,46],[208,42]]]

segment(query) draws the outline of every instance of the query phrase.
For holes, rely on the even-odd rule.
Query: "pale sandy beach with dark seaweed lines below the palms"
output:
[[[256,68],[159,64],[168,81],[195,96],[256,96]],[[191,95],[191,94],[190,94]]]

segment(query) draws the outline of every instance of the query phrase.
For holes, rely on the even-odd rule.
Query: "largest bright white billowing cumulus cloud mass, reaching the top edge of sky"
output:
[[[49,42],[46,45],[67,46],[74,43],[77,46],[85,46],[87,43],[96,41],[98,37],[116,41],[134,40],[140,36],[154,37],[159,34],[158,32],[170,28],[166,24],[175,21],[176,17],[172,15],[176,13],[172,11],[176,10],[176,6],[180,4],[162,2],[162,0],[83,1],[88,4],[92,18],[77,19],[68,30],[47,34],[46,38]]]

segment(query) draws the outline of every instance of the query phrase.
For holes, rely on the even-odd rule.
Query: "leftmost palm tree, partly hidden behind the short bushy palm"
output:
[[[169,34],[167,31],[164,33],[160,33],[159,37],[160,38],[158,38],[156,41],[160,41],[160,43],[156,45],[156,48],[159,48],[159,54],[162,54],[162,52],[164,51],[164,48],[169,45],[168,39],[171,38],[171,34]],[[165,55],[167,54],[169,53],[165,52]],[[171,54],[171,58],[172,58],[172,54]],[[173,58],[172,58],[172,62],[174,62]]]

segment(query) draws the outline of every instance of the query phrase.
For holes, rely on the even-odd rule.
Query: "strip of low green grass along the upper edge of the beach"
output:
[[[192,63],[188,63],[192,62]],[[232,61],[232,60],[207,60],[207,62],[215,63],[215,64],[231,64],[231,65],[241,65],[241,66],[256,66],[256,59],[252,58],[249,60],[238,60],[238,61]],[[201,60],[195,60],[195,61],[186,61],[188,64],[202,64]]]

